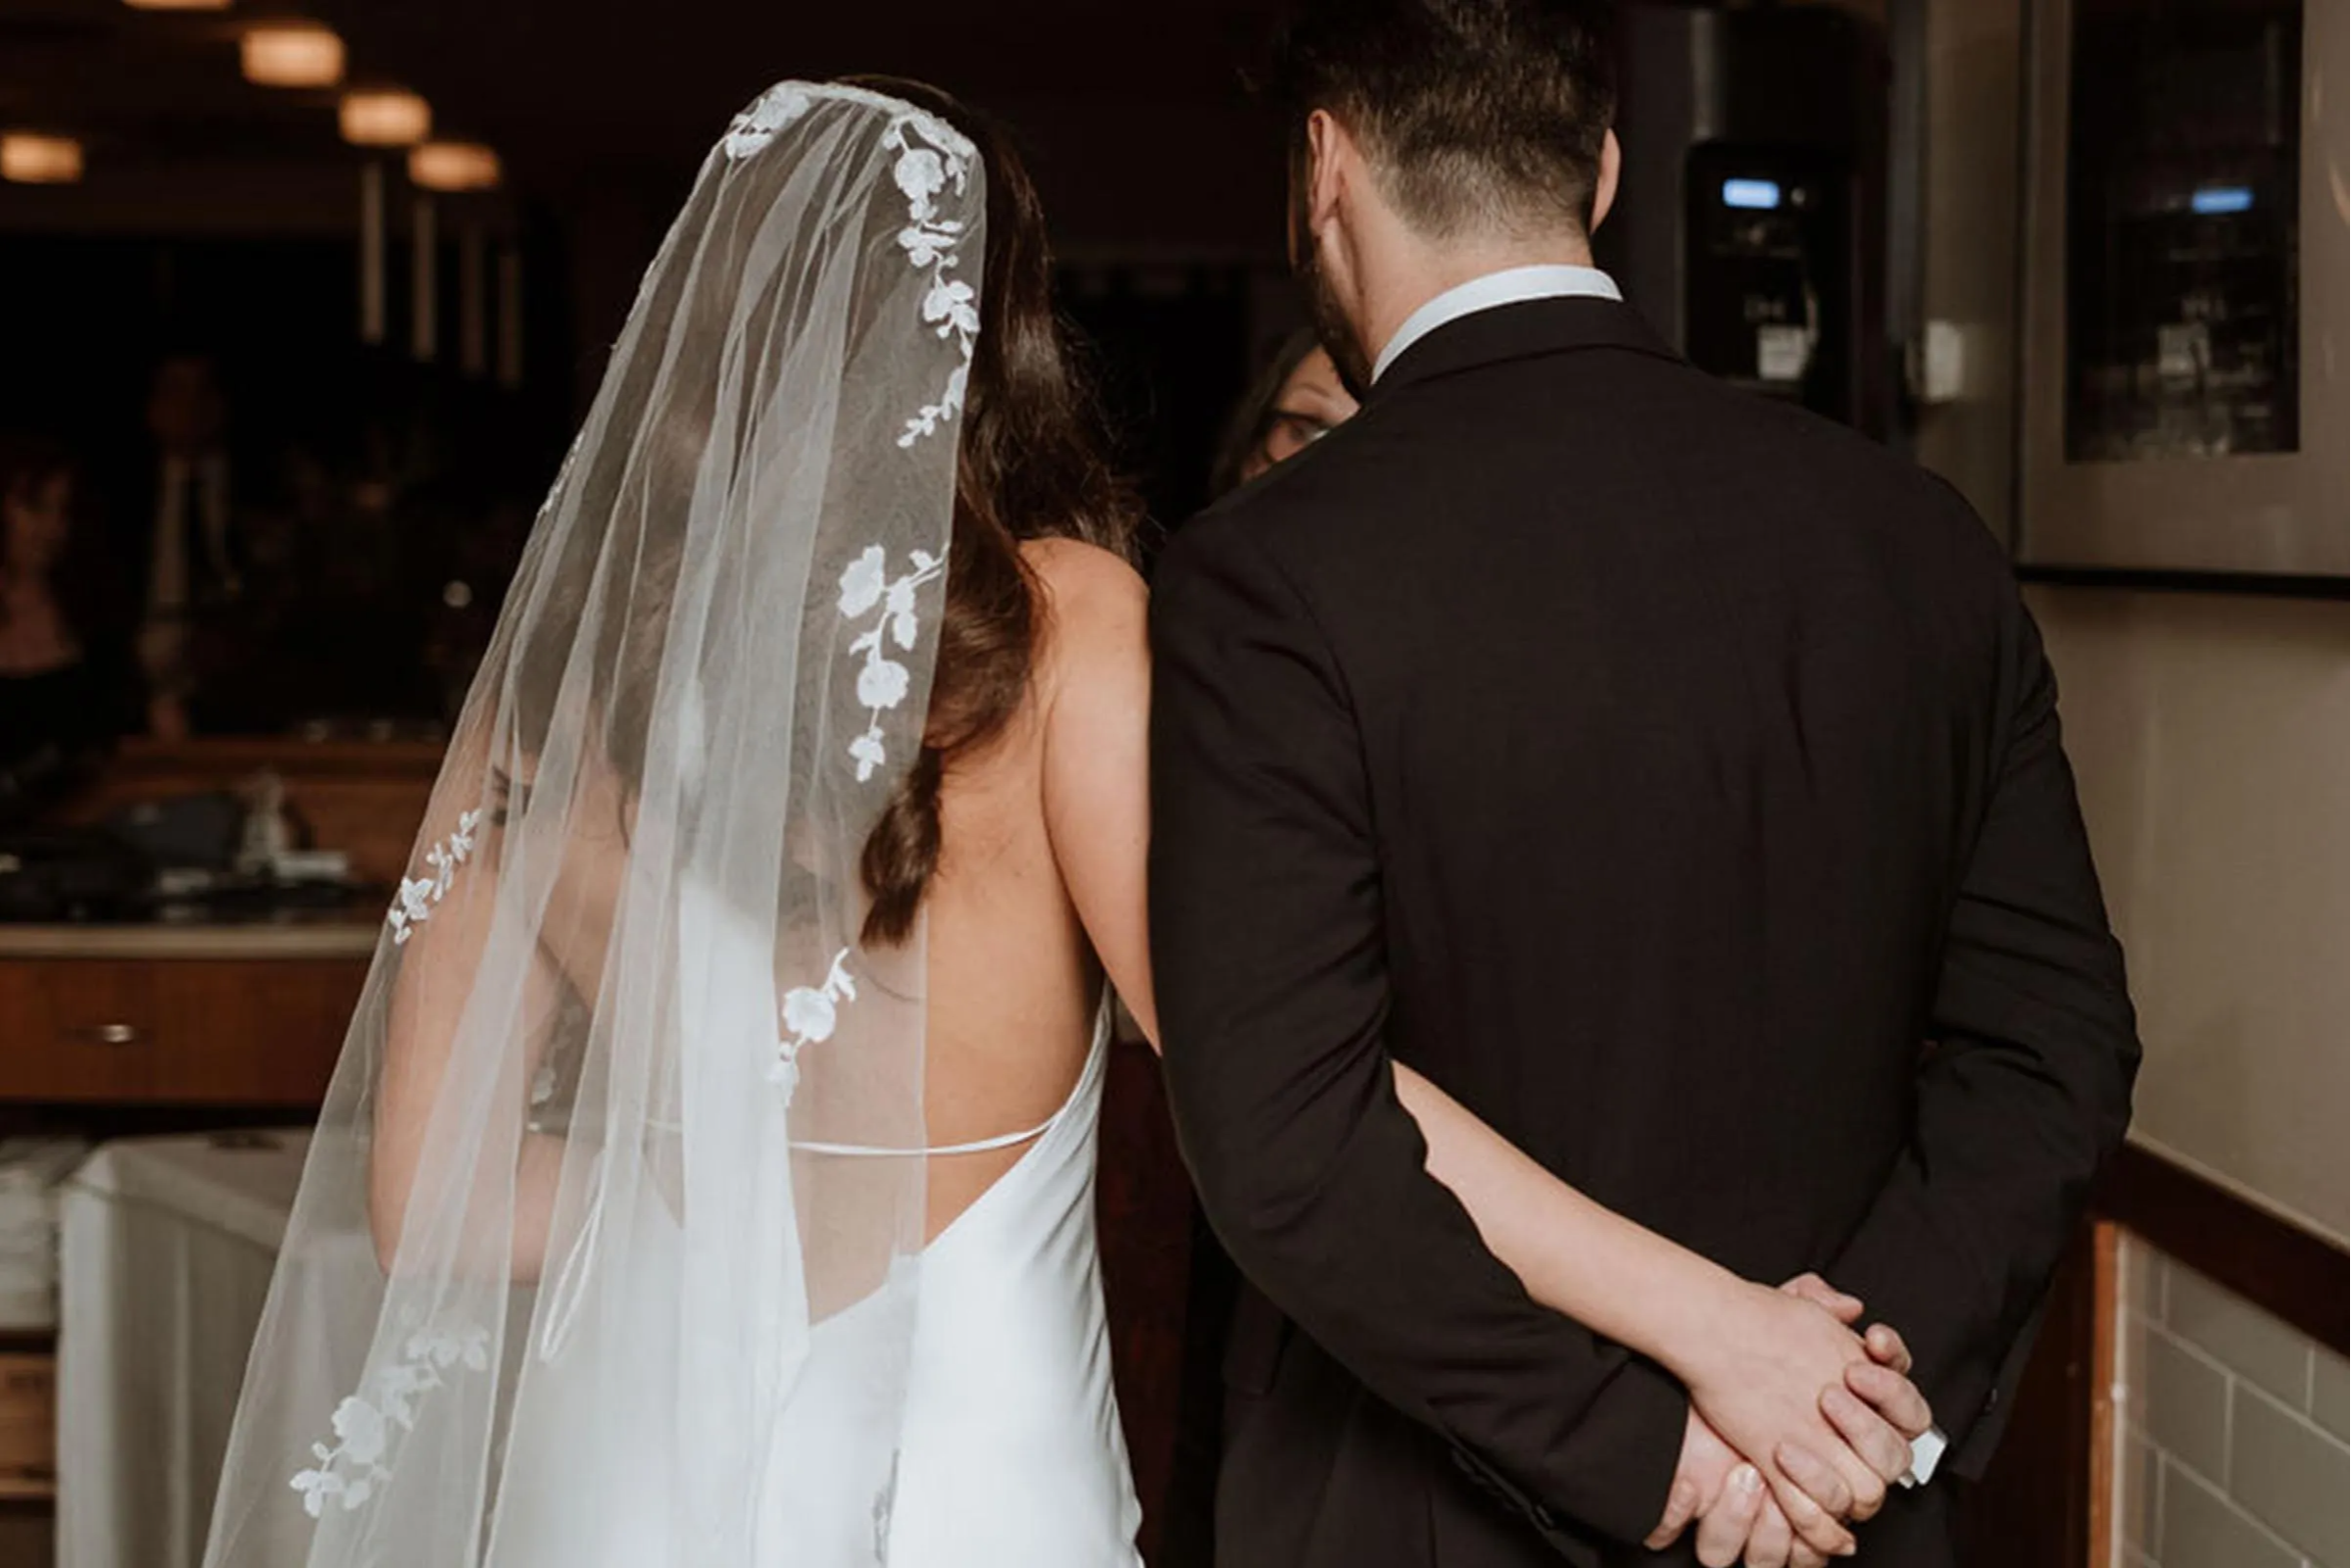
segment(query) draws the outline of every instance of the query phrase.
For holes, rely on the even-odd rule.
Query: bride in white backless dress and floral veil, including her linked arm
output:
[[[738,115],[456,729],[209,1563],[1136,1561],[1091,1201],[1107,987],[1154,1018],[1131,531],[1009,143],[910,82]],[[1925,1427],[1900,1342],[1396,1081],[1528,1288],[1759,1460],[1766,1561],[1843,1544]],[[1883,1415],[1829,1425],[1848,1382]]]

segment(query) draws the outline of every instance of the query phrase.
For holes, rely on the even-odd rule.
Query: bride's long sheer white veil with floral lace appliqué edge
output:
[[[860,945],[858,856],[922,741],[983,174],[797,82],[703,165],[386,924],[214,1568],[879,1559],[924,964]]]

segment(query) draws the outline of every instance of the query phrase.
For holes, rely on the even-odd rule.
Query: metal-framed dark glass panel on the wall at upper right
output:
[[[2351,0],[2034,0],[2020,564],[2351,588]]]

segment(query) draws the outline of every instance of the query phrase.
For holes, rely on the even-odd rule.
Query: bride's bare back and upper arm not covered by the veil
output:
[[[1084,1070],[1105,964],[1128,992],[1145,976],[1145,588],[1093,545],[1023,552],[1044,590],[1027,698],[940,790],[926,898],[933,1147],[1049,1121]],[[933,1159],[931,1234],[1025,1152]]]

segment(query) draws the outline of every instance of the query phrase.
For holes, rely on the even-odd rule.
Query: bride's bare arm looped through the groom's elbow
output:
[[[1124,562],[1084,545],[1032,548],[1032,564],[1051,607],[1041,651],[1046,825],[1112,985],[1157,1044],[1145,889],[1147,592]],[[1735,1443],[1744,1436],[1770,1458],[1801,1432],[1827,1439],[1822,1448],[1834,1441],[1843,1458],[1850,1439],[1838,1441],[1817,1406],[1864,1354],[1862,1340],[1817,1305],[1749,1284],[1594,1204],[1411,1067],[1394,1065],[1394,1077],[1427,1143],[1429,1175],[1453,1190],[1528,1295],[1669,1368]],[[1897,1415],[1925,1425],[1907,1403]],[[1888,1465],[1893,1453],[1878,1443],[1867,1467],[1843,1469],[1867,1500],[1869,1476],[1900,1474]]]

